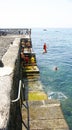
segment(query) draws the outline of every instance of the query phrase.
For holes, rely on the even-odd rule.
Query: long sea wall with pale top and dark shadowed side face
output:
[[[1,130],[20,130],[21,113],[20,103],[12,103],[17,98],[19,86],[19,43],[20,38],[14,37],[7,52],[2,57],[4,67],[0,68],[0,88],[1,106],[0,106],[0,129]]]

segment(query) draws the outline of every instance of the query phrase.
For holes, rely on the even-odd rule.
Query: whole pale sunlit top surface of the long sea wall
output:
[[[15,61],[19,50],[19,38],[15,38],[12,45],[2,58],[4,67],[0,68],[0,129],[6,129],[10,112],[10,92],[12,87]]]

